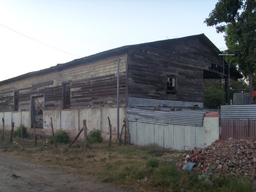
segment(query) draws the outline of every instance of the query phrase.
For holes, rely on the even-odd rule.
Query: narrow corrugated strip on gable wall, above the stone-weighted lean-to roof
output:
[[[154,107],[154,106],[167,106],[167,107],[192,107],[197,105],[198,108],[203,108],[203,103],[199,102],[184,102],[184,101],[171,101],[171,100],[156,100],[144,98],[128,98],[128,106],[130,107]]]

